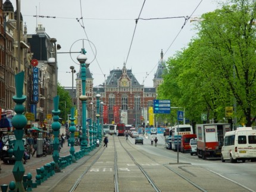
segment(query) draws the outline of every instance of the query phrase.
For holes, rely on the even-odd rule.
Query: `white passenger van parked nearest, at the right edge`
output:
[[[256,161],[256,130],[251,127],[238,127],[236,131],[228,131],[224,136],[224,145],[221,148],[221,161],[237,160]]]

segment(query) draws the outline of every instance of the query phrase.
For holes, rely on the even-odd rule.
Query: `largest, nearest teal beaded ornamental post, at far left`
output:
[[[16,137],[13,153],[16,158],[13,175],[15,178],[15,191],[25,191],[22,184],[23,175],[25,173],[25,168],[22,163],[22,158],[24,155],[24,143],[23,128],[27,125],[27,118],[23,115],[25,108],[23,102],[26,100],[26,95],[23,95],[23,83],[24,83],[24,71],[15,75],[15,87],[16,95],[13,96],[13,100],[17,105],[14,107],[16,115],[12,119],[13,127],[15,128],[14,134]]]

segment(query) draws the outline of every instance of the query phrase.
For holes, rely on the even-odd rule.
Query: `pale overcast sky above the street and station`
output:
[[[10,1],[16,10],[16,1]],[[76,58],[81,48],[87,52],[93,86],[104,83],[111,70],[126,62],[140,84],[152,87],[161,49],[167,61],[196,34],[195,22],[189,20],[182,28],[185,17],[200,17],[219,7],[216,0],[20,0],[27,34],[35,34],[42,24],[61,45],[58,81],[64,87],[72,86],[70,66],[79,71]],[[138,17],[166,19],[139,19],[136,24]]]

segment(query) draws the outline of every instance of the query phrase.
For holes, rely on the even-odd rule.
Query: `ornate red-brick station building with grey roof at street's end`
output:
[[[163,50],[158,68],[154,75],[152,87],[140,84],[133,75],[132,70],[123,67],[110,71],[105,83],[93,87],[92,95],[87,103],[89,114],[95,119],[96,94],[101,95],[101,117],[104,124],[132,124],[136,127],[141,125],[154,126],[153,102],[157,97],[157,87],[163,83],[163,74],[166,62],[163,60]]]

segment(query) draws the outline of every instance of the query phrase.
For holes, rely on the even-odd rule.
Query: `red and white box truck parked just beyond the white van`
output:
[[[224,135],[230,128],[229,123],[196,124],[198,158],[220,159]]]

